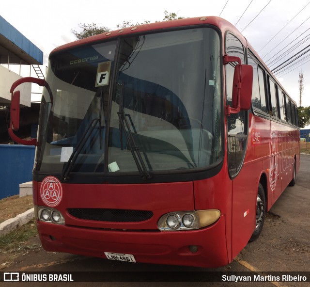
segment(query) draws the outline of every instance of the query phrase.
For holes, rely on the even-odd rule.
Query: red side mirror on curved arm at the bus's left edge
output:
[[[16,136],[16,134],[13,132],[14,130],[19,129],[19,102],[20,102],[20,91],[14,92],[16,87],[22,83],[36,83],[39,86],[44,86],[45,85],[45,80],[42,79],[37,79],[37,78],[32,78],[32,77],[26,77],[26,78],[21,78],[19,80],[16,80],[12,87],[11,87],[11,121],[10,121],[10,128],[8,128],[8,132],[10,137],[12,138],[13,141],[16,143],[21,143],[25,145],[37,145],[37,139],[31,139],[31,140],[23,140]]]

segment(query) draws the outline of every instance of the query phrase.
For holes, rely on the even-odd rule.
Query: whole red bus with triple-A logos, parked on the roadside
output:
[[[37,139],[19,139],[21,82],[43,86]],[[294,185],[298,116],[247,40],[210,16],[55,48],[46,80],[12,92],[12,138],[36,145],[47,251],[217,267],[258,238]],[[14,93],[13,93],[14,92]]]

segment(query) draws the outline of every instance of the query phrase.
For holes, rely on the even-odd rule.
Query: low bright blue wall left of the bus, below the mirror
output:
[[[19,184],[32,180],[34,146],[0,144],[0,199],[19,194]]]

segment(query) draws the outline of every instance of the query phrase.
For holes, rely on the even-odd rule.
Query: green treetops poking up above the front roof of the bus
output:
[[[177,20],[177,19],[183,19],[184,17],[178,17],[178,15],[176,13],[168,13],[167,10],[165,10],[164,12],[165,16],[162,19],[162,21],[171,21],[171,20]],[[156,21],[156,22],[160,22],[160,21]],[[132,27],[132,26],[139,26],[139,25],[143,25],[143,24],[149,24],[150,21],[144,20],[142,23],[137,22],[136,24],[132,22],[132,20],[129,21],[123,21],[122,24],[118,24],[117,25],[117,29],[125,29],[128,27]],[[71,30],[71,32],[76,36],[76,38],[78,40],[80,39],[84,39],[93,35],[97,35],[97,34],[101,34],[104,32],[109,32],[111,31],[110,28],[105,27],[105,26],[101,26],[98,27],[96,24],[82,24],[79,23],[78,27],[82,29],[82,32],[77,32],[74,30]]]

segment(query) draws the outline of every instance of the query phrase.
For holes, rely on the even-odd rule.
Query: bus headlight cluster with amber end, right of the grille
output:
[[[199,229],[215,223],[220,215],[218,209],[170,212],[158,220],[157,227],[161,231]]]

